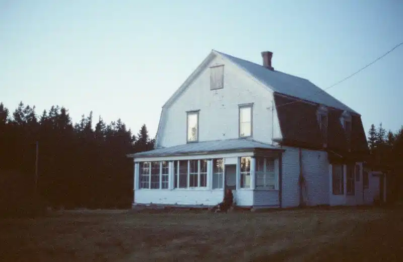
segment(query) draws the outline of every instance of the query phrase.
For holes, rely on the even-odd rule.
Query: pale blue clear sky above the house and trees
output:
[[[157,130],[161,106],[212,49],[325,89],[403,41],[403,1],[0,0],[0,101],[73,121]],[[371,123],[403,124],[403,46],[327,92]],[[398,113],[400,112],[400,113]]]

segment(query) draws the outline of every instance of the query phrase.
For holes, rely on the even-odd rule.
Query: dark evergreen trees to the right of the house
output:
[[[386,174],[387,201],[403,199],[403,125],[396,132],[386,131],[379,123],[368,130],[368,164],[373,171]]]

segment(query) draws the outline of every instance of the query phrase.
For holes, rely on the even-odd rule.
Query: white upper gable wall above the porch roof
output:
[[[214,64],[224,66],[224,88],[210,90],[210,69]],[[253,104],[253,139],[272,143],[274,133],[281,137],[276,111],[268,108],[273,93],[261,86],[235,65],[216,56],[203,72],[176,100],[165,109],[159,134],[160,147],[186,143],[186,111],[199,111],[199,141],[238,138],[238,104]]]

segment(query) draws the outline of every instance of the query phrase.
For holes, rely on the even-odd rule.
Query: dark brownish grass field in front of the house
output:
[[[400,210],[63,212],[0,220],[4,261],[403,261]],[[387,260],[388,259],[388,260]]]

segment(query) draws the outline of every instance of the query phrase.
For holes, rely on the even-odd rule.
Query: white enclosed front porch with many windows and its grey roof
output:
[[[189,143],[129,155],[133,205],[214,206],[226,188],[240,207],[279,207],[281,150],[253,140]]]

